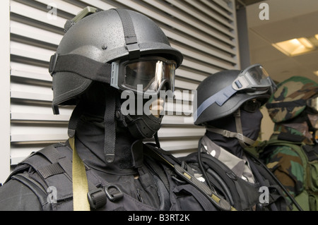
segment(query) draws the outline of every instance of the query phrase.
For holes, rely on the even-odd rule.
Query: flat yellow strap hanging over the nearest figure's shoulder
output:
[[[73,210],[74,211],[90,211],[88,203],[88,181],[86,170],[82,159],[78,156],[75,147],[74,138],[69,138],[69,144],[73,150]]]

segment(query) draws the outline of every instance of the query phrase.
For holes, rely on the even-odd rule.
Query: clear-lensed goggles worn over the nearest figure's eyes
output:
[[[159,94],[160,90],[175,91],[177,63],[160,57],[112,63],[111,86],[141,94]]]

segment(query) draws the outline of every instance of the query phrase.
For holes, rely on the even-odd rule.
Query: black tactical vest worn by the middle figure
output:
[[[198,159],[198,153],[194,152],[185,157],[184,161],[196,169],[196,171],[202,172],[201,168],[203,167],[211,185],[216,188],[217,192],[225,197],[235,209],[243,211],[285,211],[287,209],[281,188],[273,181],[269,171],[264,169],[264,165],[257,159],[254,159],[254,157],[249,156],[248,158],[252,172],[257,178],[257,183],[249,183],[237,177],[228,166],[210,154],[206,154],[206,152],[201,152],[200,157],[201,160]],[[199,166],[199,161],[201,161],[202,167]],[[260,189],[261,186],[265,186],[268,188],[267,190],[269,190],[267,202],[264,201],[260,195],[263,193],[263,189]]]

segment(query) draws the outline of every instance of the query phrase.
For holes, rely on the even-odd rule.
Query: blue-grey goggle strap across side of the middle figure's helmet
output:
[[[237,92],[233,89],[232,84],[228,85],[227,87],[223,88],[223,90],[220,90],[219,92],[216,92],[216,94],[212,95],[211,97],[208,97],[202,104],[198,107],[196,112],[194,113],[195,121],[199,116],[206,110],[208,107],[211,106],[214,102],[218,104],[220,107],[228,101],[228,99]]]

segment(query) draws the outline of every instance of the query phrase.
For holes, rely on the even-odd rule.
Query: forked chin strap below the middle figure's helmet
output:
[[[208,126],[206,130],[223,135],[225,138],[237,138],[237,140],[243,148],[248,147],[249,145],[253,145],[255,141],[243,135],[242,123],[240,118],[240,109],[237,109],[237,111],[234,112],[233,116],[235,117],[235,126],[237,130],[236,133],[230,130],[216,128],[214,126]]]

